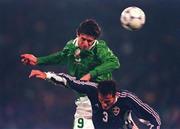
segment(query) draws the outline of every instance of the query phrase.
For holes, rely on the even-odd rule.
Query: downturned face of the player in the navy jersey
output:
[[[103,96],[99,93],[98,99],[99,102],[101,103],[102,108],[105,110],[108,110],[115,102],[115,96],[113,96],[112,94]]]

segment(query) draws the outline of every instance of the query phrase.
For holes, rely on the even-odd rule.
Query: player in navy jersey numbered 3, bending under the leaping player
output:
[[[68,74],[39,70],[32,70],[29,77],[33,76],[85,93],[91,101],[95,129],[136,129],[128,118],[129,112],[133,112],[149,129],[160,129],[159,115],[133,93],[117,91],[113,80],[84,82]]]

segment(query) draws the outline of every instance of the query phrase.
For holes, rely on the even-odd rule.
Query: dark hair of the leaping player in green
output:
[[[77,34],[87,34],[97,39],[101,34],[101,28],[94,19],[86,19],[81,22],[76,30]]]

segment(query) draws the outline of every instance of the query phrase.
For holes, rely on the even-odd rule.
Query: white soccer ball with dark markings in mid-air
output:
[[[135,6],[125,8],[120,16],[121,25],[127,30],[139,30],[145,24],[145,20],[143,10]]]

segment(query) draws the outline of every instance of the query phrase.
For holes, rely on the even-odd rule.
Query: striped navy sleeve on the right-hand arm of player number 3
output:
[[[149,105],[143,103],[136,95],[130,92],[122,92],[123,96],[128,100],[130,109],[139,118],[140,122],[146,124],[150,129],[160,129],[161,120]]]

